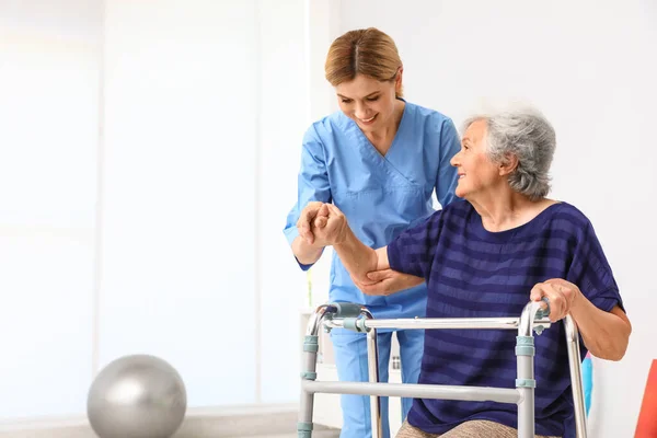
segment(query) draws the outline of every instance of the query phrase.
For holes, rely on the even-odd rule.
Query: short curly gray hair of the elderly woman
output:
[[[487,126],[487,154],[503,163],[509,155],[518,158],[518,166],[509,175],[511,188],[532,200],[550,193],[550,165],[556,148],[554,128],[537,110],[522,108],[476,115],[465,120],[463,131],[477,120]]]

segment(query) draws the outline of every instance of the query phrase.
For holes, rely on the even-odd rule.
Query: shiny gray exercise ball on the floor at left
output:
[[[125,356],[94,379],[87,415],[100,438],[170,438],[187,408],[185,383],[166,361]]]

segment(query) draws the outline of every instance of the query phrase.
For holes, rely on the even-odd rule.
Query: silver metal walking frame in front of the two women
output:
[[[308,322],[303,342],[301,400],[299,423],[297,425],[298,437],[311,438],[312,436],[314,394],[331,393],[370,395],[372,437],[377,438],[382,437],[380,396],[515,403],[518,405],[518,438],[534,438],[534,388],[537,382],[534,380],[535,349],[533,332],[535,331],[540,335],[543,330],[549,328],[551,325],[550,320],[546,318],[549,310],[541,309],[541,302],[529,302],[522,310],[519,319],[415,318],[390,320],[374,320],[372,313],[361,304],[336,302],[318,307]],[[577,438],[587,438],[584,391],[581,385],[579,333],[569,315],[563,320],[563,323],[566,328]],[[322,326],[326,331],[331,331],[332,328],[348,328],[358,333],[367,333],[369,382],[323,382],[316,380],[318,332]],[[379,382],[378,328],[517,328],[516,356],[518,373],[516,389]]]

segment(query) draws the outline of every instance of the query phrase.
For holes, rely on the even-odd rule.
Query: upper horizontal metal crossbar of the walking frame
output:
[[[518,330],[518,318],[422,318],[415,320],[367,320],[365,326],[368,328],[503,328]],[[533,326],[542,325],[550,327],[550,320],[544,318],[533,322]],[[343,321],[339,319],[325,321],[324,325],[330,328],[342,328]],[[529,322],[528,322],[529,326]]]

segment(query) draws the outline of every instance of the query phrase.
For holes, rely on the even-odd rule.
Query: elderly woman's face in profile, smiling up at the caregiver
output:
[[[472,199],[477,194],[499,184],[504,178],[499,166],[486,153],[486,122],[472,123],[461,140],[461,150],[451,159],[459,170],[457,196]]]

